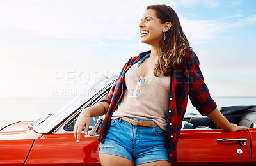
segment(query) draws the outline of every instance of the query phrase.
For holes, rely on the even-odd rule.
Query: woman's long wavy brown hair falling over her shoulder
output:
[[[191,49],[189,42],[182,31],[177,13],[166,5],[150,5],[147,10],[152,9],[156,13],[156,17],[161,20],[161,23],[171,22],[172,27],[166,31],[164,38],[161,39],[159,47],[161,54],[158,59],[154,75],[159,77],[158,72],[164,76],[168,76],[177,70],[177,67],[183,63],[185,49]]]

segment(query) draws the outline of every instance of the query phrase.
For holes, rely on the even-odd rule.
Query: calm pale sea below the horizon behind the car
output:
[[[0,97],[0,123],[13,121],[35,121],[46,114],[53,114],[74,98],[70,97]],[[236,105],[256,105],[253,97],[212,97],[221,107]],[[199,114],[188,101],[186,112]]]

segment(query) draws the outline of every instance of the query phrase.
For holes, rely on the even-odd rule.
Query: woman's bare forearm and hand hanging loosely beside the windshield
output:
[[[103,105],[101,105],[102,103]],[[108,110],[109,104],[107,102],[100,102],[96,105],[93,105],[92,107],[87,107],[86,109],[83,109],[80,113],[80,115],[77,118],[76,124],[74,126],[74,137],[76,139],[76,142],[78,143],[80,141],[81,132],[84,128],[84,133],[87,134],[90,126],[90,117],[94,116],[102,116],[106,114],[106,111]]]

